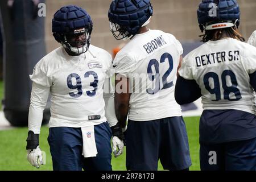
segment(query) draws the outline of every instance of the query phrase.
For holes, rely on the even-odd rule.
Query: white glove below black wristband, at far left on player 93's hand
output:
[[[39,146],[33,150],[27,150],[27,160],[30,164],[36,168],[39,168],[40,165],[43,165],[43,154]]]

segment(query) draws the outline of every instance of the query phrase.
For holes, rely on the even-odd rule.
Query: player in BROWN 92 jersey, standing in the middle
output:
[[[109,9],[115,39],[130,41],[117,53],[115,113],[126,130],[126,168],[188,170],[187,131],[174,98],[183,48],[171,34],[150,30],[149,0],[115,0]]]

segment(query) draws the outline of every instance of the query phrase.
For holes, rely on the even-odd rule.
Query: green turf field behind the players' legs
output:
[[[192,158],[191,170],[199,170],[199,117],[185,118],[189,147]],[[46,152],[46,165],[40,169],[31,167],[26,159],[27,128],[0,131],[0,171],[1,170],[52,170],[51,154],[47,142],[48,127],[43,126],[40,147]],[[125,170],[125,153],[112,159],[113,170]],[[163,170],[159,163],[159,170]]]

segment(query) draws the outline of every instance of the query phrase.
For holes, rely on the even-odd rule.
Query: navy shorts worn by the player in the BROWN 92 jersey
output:
[[[176,171],[191,166],[183,118],[129,120],[126,131],[126,168],[156,171],[159,159],[164,169]]]

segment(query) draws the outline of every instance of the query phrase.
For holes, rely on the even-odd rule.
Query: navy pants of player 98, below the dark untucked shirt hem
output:
[[[214,164],[213,154],[216,153]],[[210,162],[209,162],[210,160]],[[256,171],[256,138],[220,144],[200,143],[202,171]]]

